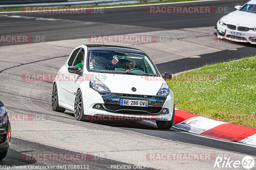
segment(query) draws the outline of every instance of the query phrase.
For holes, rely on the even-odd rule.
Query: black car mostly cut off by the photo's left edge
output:
[[[4,104],[0,101],[0,160],[4,159],[11,139],[11,124]]]

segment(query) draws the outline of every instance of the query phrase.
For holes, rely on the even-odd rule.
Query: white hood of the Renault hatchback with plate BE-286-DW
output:
[[[155,80],[152,80],[148,76],[140,75],[93,72],[90,72],[90,74],[105,84],[112,93],[156,96],[164,83],[162,77],[151,77],[155,78]],[[98,75],[102,78],[99,78]],[[132,91],[133,87],[137,89],[135,92]]]

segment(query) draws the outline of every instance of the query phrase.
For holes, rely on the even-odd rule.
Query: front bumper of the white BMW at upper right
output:
[[[234,25],[235,26],[235,25]],[[217,32],[216,36],[219,39],[227,39],[230,42],[243,42],[243,43],[251,43],[251,44],[256,44],[256,32],[249,30],[249,31],[238,31],[236,28],[229,29],[227,25],[220,25],[219,21],[216,25],[217,27]],[[234,35],[231,32],[237,32],[239,35]]]

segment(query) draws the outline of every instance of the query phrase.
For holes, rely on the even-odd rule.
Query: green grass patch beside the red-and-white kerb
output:
[[[191,80],[193,76],[195,80]],[[176,108],[256,127],[256,56],[207,65],[174,76],[167,83],[174,93]]]

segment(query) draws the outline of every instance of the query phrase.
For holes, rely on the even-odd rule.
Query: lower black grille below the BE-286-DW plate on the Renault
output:
[[[113,110],[116,113],[124,113],[124,114],[142,114],[143,112],[149,112],[149,113],[158,113],[162,110],[161,107],[140,107],[140,106],[121,106],[119,104],[105,104],[106,109]],[[116,111],[118,110],[118,111]]]

